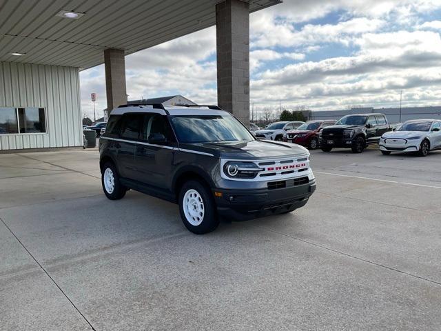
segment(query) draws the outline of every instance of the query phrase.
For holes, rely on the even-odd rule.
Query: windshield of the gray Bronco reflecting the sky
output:
[[[185,115],[172,117],[180,143],[253,141],[254,137],[231,115]]]

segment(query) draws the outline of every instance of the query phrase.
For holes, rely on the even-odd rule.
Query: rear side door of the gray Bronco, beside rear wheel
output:
[[[119,139],[115,142],[118,154],[116,160],[121,177],[135,177],[135,147],[141,129],[141,114],[124,114]]]

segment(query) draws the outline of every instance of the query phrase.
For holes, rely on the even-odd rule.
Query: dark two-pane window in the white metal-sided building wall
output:
[[[44,108],[0,108],[0,134],[46,132]]]

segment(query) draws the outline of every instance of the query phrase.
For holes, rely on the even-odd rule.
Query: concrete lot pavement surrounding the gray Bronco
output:
[[[291,214],[188,232],[96,150],[0,155],[1,330],[441,330],[441,152],[311,152]]]

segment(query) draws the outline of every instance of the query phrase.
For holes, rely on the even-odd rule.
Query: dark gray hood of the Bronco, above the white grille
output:
[[[234,159],[268,159],[309,154],[302,146],[279,141],[254,140],[248,143],[198,143],[203,152]]]

